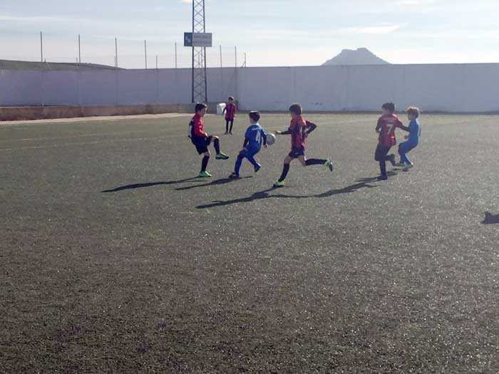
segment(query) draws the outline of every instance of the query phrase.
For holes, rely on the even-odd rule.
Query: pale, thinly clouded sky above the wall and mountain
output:
[[[144,68],[190,64],[190,0],[1,0],[0,59]],[[390,63],[499,63],[498,0],[206,0],[208,66],[314,66],[344,48]]]

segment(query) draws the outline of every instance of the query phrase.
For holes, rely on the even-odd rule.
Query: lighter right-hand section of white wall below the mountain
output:
[[[499,64],[318,66],[238,71],[243,110],[379,110],[418,105],[426,111],[499,111]]]

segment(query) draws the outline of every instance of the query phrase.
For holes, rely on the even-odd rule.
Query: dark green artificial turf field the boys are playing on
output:
[[[499,117],[423,115],[386,182],[377,115],[307,118],[334,173],[282,189],[285,136],[226,179],[242,114],[212,180],[187,117],[0,125],[0,372],[497,373]]]

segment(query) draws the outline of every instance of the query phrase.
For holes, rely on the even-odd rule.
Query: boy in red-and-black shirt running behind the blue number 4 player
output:
[[[275,182],[274,187],[283,187],[284,180],[289,172],[289,164],[297,158],[303,166],[310,165],[325,165],[331,172],[333,171],[333,162],[331,159],[319,160],[310,159],[307,160],[305,157],[305,139],[317,128],[312,122],[305,120],[302,116],[302,105],[293,104],[289,107],[289,115],[291,115],[291,125],[287,131],[276,131],[275,135],[291,135],[291,152],[284,158],[284,167],[282,169],[282,175],[279,180]]]

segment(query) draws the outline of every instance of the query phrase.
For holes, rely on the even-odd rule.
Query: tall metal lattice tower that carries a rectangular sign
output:
[[[192,34],[205,33],[205,0],[192,0]],[[192,103],[207,103],[206,48],[192,47]]]

